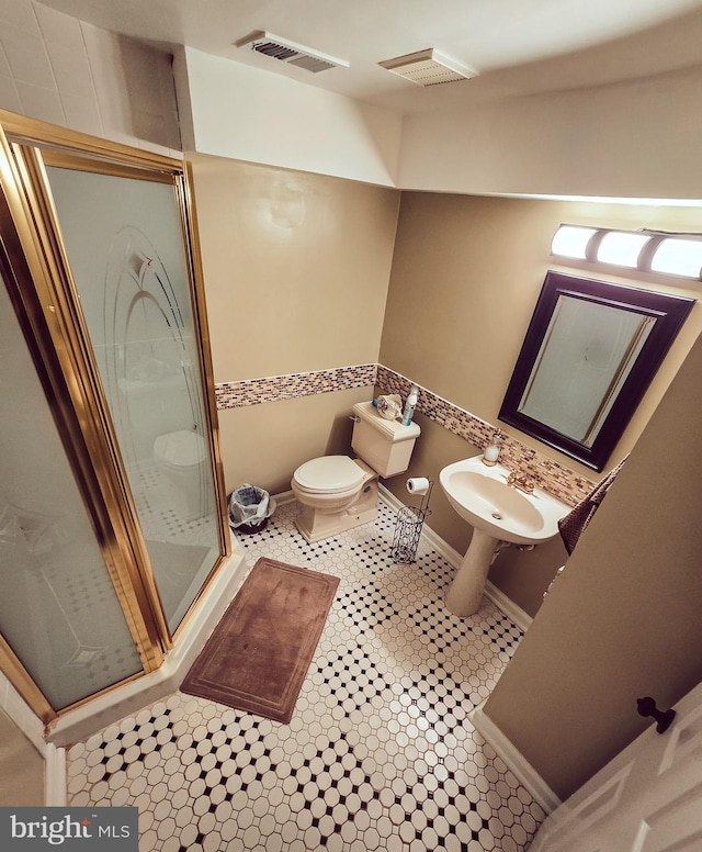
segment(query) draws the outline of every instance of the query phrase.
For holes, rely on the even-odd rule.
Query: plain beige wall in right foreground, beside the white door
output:
[[[561,797],[702,679],[702,339],[546,597],[485,713]]]

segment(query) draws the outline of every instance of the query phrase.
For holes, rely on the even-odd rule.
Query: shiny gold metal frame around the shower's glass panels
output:
[[[10,296],[138,651],[143,671],[135,676],[140,676],[161,665],[188,615],[177,630],[169,629],[52,200],[47,166],[169,183],[177,194],[190,274],[219,548],[219,557],[190,612],[230,554],[192,192],[180,160],[0,110],[0,259],[4,261]],[[0,670],[44,722],[94,697],[56,710],[1,636]]]

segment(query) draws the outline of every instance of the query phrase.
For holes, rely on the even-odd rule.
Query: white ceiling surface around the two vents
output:
[[[41,0],[401,113],[613,83],[702,64],[702,0]],[[237,47],[267,31],[350,65],[312,74]],[[378,66],[426,48],[479,72],[420,87]]]

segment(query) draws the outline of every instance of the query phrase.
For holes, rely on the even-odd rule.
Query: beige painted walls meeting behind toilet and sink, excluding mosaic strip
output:
[[[546,269],[568,271],[550,262],[558,224],[694,229],[699,218],[698,210],[684,208],[412,192],[403,193],[398,222],[394,190],[203,155],[190,159],[217,382],[380,360],[501,428],[497,414]],[[645,277],[627,283],[697,296],[694,288]],[[701,327],[702,306],[695,305],[612,463],[634,446]],[[271,493],[286,491],[303,461],[348,451],[350,431],[340,418],[372,393],[356,389],[222,411],[227,490],[253,482]],[[422,436],[408,475],[438,481],[444,464],[478,451],[421,415],[417,422]],[[401,500],[405,479],[385,481]],[[431,508],[429,526],[464,552],[472,530],[439,487]],[[565,560],[559,540],[529,552],[510,549],[490,580],[534,615]]]

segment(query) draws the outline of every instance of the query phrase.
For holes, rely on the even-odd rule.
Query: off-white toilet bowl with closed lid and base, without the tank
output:
[[[297,528],[309,542],[367,524],[377,513],[377,473],[349,456],[306,461],[291,487],[302,506]]]

